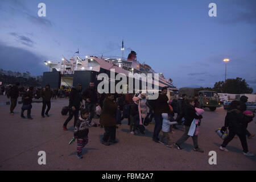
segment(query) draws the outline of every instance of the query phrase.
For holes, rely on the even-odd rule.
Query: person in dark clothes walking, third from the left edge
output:
[[[47,105],[47,110],[46,110],[46,115],[49,117],[48,113],[49,110],[51,109],[51,98],[52,98],[53,92],[48,85],[46,85],[46,88],[42,89],[41,91],[41,97],[43,98],[43,107],[42,107],[42,118],[44,118],[44,111],[46,110],[46,105]]]

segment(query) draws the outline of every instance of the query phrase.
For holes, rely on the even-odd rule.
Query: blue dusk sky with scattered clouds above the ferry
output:
[[[38,4],[46,3],[46,17]],[[209,3],[217,17],[210,17]],[[0,68],[43,75],[44,60],[80,55],[137,59],[174,86],[213,87],[242,77],[256,92],[256,1],[0,0]]]

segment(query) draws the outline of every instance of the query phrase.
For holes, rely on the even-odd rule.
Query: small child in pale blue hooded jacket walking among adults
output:
[[[177,122],[176,121],[173,122],[174,118],[172,118],[171,116],[168,116],[167,113],[163,113],[162,117],[163,117],[163,125],[162,125],[163,135],[158,142],[165,144],[167,147],[172,147],[170,143],[170,137],[169,137],[170,125],[176,125]],[[172,122],[169,121],[169,119],[171,118],[172,118]],[[164,139],[166,139],[165,142],[164,142]]]

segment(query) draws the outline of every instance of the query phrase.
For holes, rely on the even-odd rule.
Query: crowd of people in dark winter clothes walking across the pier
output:
[[[42,98],[42,117],[45,115],[49,117],[49,110],[51,109],[51,99],[63,96],[63,91],[69,92],[68,118],[63,124],[63,130],[67,131],[67,125],[72,118],[74,118],[74,138],[77,139],[77,157],[82,158],[82,148],[88,143],[89,128],[92,126],[100,126],[104,128],[104,136],[101,143],[105,146],[110,146],[117,143],[115,138],[116,129],[121,125],[123,119],[127,118],[130,133],[133,135],[145,134],[145,126],[152,123],[154,118],[154,133],[152,141],[163,143],[167,147],[172,147],[170,143],[169,133],[173,132],[176,125],[184,125],[184,134],[174,142],[174,146],[181,150],[182,144],[189,138],[193,140],[193,150],[196,152],[204,152],[199,148],[198,134],[203,109],[199,107],[198,98],[187,98],[183,94],[179,100],[168,101],[167,88],[164,87],[159,92],[159,97],[156,100],[147,100],[147,95],[141,94],[99,94],[94,82],[90,82],[89,87],[82,90],[81,84],[77,84],[73,88],[61,88],[59,90],[52,90],[50,85],[46,85],[43,89],[34,90],[33,87],[28,88],[22,93],[22,112],[21,117],[24,117],[24,111],[27,110],[27,118],[31,118],[32,98]],[[40,91],[40,92],[39,92]],[[9,90],[8,96],[11,100],[10,113],[14,114],[17,98],[19,97],[19,83],[12,86]],[[252,121],[253,117],[248,117],[246,110],[246,97],[241,97],[241,101],[233,101],[225,117],[225,123],[221,131],[225,132],[229,129],[228,137],[220,146],[220,150],[228,151],[226,146],[237,135],[242,144],[243,154],[252,156],[248,151],[246,136],[248,138],[254,135],[247,131],[247,125]],[[47,110],[46,110],[47,106]],[[96,123],[93,118],[97,109],[100,111],[100,123]],[[245,114],[247,112],[247,114]],[[177,117],[175,118],[175,113]],[[249,113],[251,114],[251,113]],[[254,115],[253,115],[254,116]],[[162,131],[162,136],[160,132]]]

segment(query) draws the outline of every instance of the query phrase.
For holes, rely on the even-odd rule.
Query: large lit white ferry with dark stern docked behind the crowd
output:
[[[122,43],[122,52],[123,52],[123,43]],[[79,52],[79,51],[78,51]],[[123,55],[123,54],[122,54]],[[84,56],[84,59],[81,56],[76,55],[71,59],[67,60],[63,57],[60,62],[53,61],[44,61],[49,67],[49,72],[43,73],[43,85],[50,84],[52,88],[61,88],[61,86],[75,86],[76,84],[82,84],[82,88],[87,88],[89,82],[94,82],[97,86],[101,80],[97,80],[97,76],[100,73],[106,73],[110,78],[110,69],[114,69],[115,75],[118,73],[124,73],[127,76],[127,86],[129,87],[128,78],[129,73],[138,73],[138,75],[144,73],[152,73],[152,89],[155,88],[155,85],[158,84],[159,89],[167,86],[169,90],[176,90],[175,86],[172,84],[171,79],[167,79],[163,76],[163,73],[159,73],[159,78],[154,78],[154,73],[156,73],[150,65],[140,63],[137,60],[137,53],[131,51],[125,59],[123,56]],[[136,78],[134,78],[136,79]],[[138,79],[140,79],[138,77]],[[115,84],[119,82],[115,81]],[[135,80],[133,81],[135,84]],[[140,89],[142,88],[142,80],[139,80]],[[134,87],[133,87],[134,88]],[[127,89],[128,90],[128,89]]]

